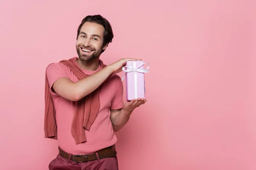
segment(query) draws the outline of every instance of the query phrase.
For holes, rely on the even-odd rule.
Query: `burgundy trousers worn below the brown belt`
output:
[[[103,158],[95,161],[74,162],[59,154],[49,164],[49,170],[118,170],[117,157]]]

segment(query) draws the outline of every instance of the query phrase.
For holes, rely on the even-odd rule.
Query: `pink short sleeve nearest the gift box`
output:
[[[115,78],[115,93],[114,97],[111,103],[111,110],[117,110],[123,108],[124,102],[123,102],[123,84],[121,81],[121,78],[116,74]]]

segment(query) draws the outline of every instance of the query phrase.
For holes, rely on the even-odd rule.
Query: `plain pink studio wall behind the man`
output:
[[[255,9],[253,0],[1,0],[0,169],[47,170],[57,155],[44,139],[45,68],[76,56],[82,18],[102,14],[114,39],[101,59],[150,63],[148,102],[116,133],[120,170],[256,170]]]

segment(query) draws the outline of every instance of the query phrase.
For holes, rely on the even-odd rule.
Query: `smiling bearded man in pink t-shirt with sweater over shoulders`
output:
[[[108,20],[87,16],[77,32],[78,58],[52,63],[46,69],[45,137],[58,137],[59,145],[49,170],[118,170],[114,131],[146,100],[123,103],[123,85],[116,73],[128,60],[140,59],[104,65],[99,57],[112,39]]]

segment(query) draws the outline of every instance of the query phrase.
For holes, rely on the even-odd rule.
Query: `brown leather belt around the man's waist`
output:
[[[99,159],[116,156],[115,145],[112,145],[110,147],[99,150],[96,153],[98,153]],[[94,161],[94,160],[97,160],[96,153],[93,153],[91,155],[72,155],[71,154],[70,160],[73,160],[75,162]],[[64,150],[61,150],[60,147],[59,147],[59,154],[60,154],[60,156],[62,156],[63,158],[66,158],[66,159],[69,159],[69,157],[70,157],[70,154],[66,153]]]

